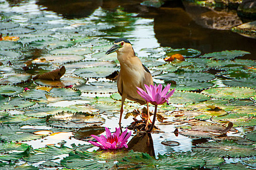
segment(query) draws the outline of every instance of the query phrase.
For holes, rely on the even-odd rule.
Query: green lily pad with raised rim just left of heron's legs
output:
[[[72,113],[63,111],[52,116],[48,119],[48,122],[53,127],[77,129],[87,126],[100,126],[103,124],[104,119],[83,112]]]

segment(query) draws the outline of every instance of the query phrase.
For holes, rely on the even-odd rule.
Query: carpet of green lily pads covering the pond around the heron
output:
[[[249,52],[202,55],[193,49],[142,49],[136,43],[140,37],[133,32],[153,30],[151,19],[102,8],[86,18],[65,19],[39,7],[24,11],[31,9],[29,5],[21,4],[16,6],[17,12],[11,12],[14,7],[0,2],[0,33],[18,37],[0,41],[1,170],[256,168],[256,62],[242,59]],[[90,135],[102,134],[104,126],[111,131],[118,126],[121,103],[115,72],[119,64],[115,54],[104,55],[118,37],[133,43],[157,84],[171,83],[176,88],[171,105],[158,106],[156,126],[160,130],[153,140],[179,140],[186,146],[183,140],[203,138],[205,143],[183,152],[154,142],[156,148],[176,151],[159,153],[158,158],[135,151],[87,151],[93,147],[84,142],[92,140]],[[164,61],[177,53],[185,60]],[[62,66],[66,73],[60,81],[32,79]],[[126,103],[129,121],[123,126],[133,117],[140,119],[133,114],[137,108],[143,106]],[[229,122],[233,128],[223,133]],[[178,137],[189,137],[171,136],[170,129],[175,128]],[[80,143],[44,144],[66,133]]]

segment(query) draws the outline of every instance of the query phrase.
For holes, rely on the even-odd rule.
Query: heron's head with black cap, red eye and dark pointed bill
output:
[[[114,45],[106,51],[106,55],[113,52],[131,52],[133,50],[132,44],[125,38],[119,38],[114,41]]]

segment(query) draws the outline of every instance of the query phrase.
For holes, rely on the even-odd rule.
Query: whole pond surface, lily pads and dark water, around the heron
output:
[[[178,0],[158,9],[135,0],[0,0],[0,167],[97,169],[98,163],[113,167],[113,160],[132,154],[95,157],[98,148],[87,142],[92,134],[105,135],[102,127],[118,127],[120,96],[115,76],[108,76],[119,62],[116,53],[105,51],[125,37],[154,82],[176,88],[171,104],[158,106],[159,129],[139,137],[132,130],[129,149],[158,161],[195,162],[173,169],[256,169],[256,39],[200,26],[193,16],[202,11],[208,10]],[[164,60],[173,54],[185,60]],[[32,79],[62,66],[60,81]],[[123,130],[141,119],[134,110],[143,107],[126,100]],[[223,133],[229,122],[233,127]],[[90,156],[82,156],[84,151]],[[171,156],[161,157],[165,153]],[[94,167],[84,165],[85,157]],[[137,162],[129,161],[135,168]]]

